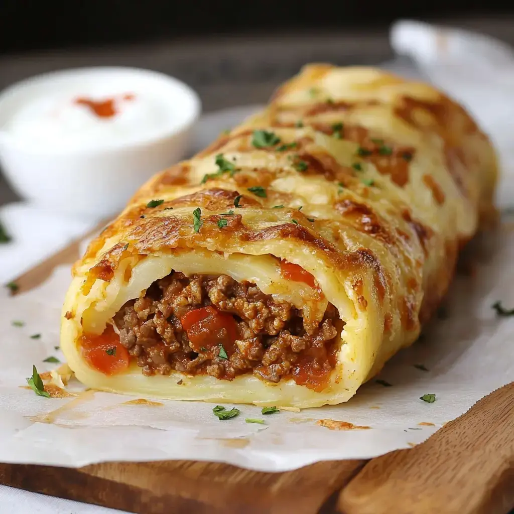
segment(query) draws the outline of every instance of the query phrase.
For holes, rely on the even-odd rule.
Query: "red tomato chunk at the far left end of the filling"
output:
[[[129,355],[121,345],[112,325],[99,336],[84,334],[80,338],[82,355],[89,365],[105,375],[116,375],[128,368]]]

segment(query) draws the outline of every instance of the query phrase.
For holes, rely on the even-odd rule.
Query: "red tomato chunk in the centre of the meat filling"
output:
[[[212,306],[201,307],[183,315],[180,323],[195,352],[200,352],[201,348],[209,350],[218,344],[223,344],[229,355],[234,350],[237,324],[230,314],[221,313]]]

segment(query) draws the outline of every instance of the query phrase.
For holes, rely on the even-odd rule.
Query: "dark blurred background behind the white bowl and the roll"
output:
[[[399,18],[490,34],[514,45],[514,2],[0,0],[0,89],[94,65],[155,69],[194,87],[204,112],[265,102],[306,62],[383,63]],[[14,198],[0,177],[0,204]]]

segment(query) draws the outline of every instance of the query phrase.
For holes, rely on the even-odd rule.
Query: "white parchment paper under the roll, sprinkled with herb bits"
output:
[[[448,88],[456,83],[450,81]],[[489,100],[494,104],[494,94]],[[499,189],[512,191],[512,161],[500,151],[506,172]],[[503,193],[502,198],[501,205],[508,205],[510,196]],[[55,347],[69,268],[58,268],[45,284],[23,295],[9,297],[2,291],[0,462],[83,466],[191,459],[284,471],[322,460],[370,458],[418,444],[475,401],[514,380],[514,318],[498,317],[491,308],[498,300],[514,307],[514,217],[509,216],[506,211],[498,232],[474,241],[468,274],[457,276],[444,311],[425,328],[420,341],[386,365],[377,377],[380,382],[365,384],[342,405],[301,412],[262,415],[260,408],[237,406],[238,417],[220,421],[212,413],[215,404],[153,399],[160,405],[127,405],[137,397],[84,392],[74,380],[66,389],[77,396],[36,396],[25,388],[32,365],[43,373],[58,366],[43,362],[47,357],[64,360]],[[41,337],[31,338],[36,334]],[[435,394],[436,400],[420,400],[424,394]],[[265,425],[245,423],[247,417],[263,419]],[[333,430],[317,424],[321,419],[361,428]]]

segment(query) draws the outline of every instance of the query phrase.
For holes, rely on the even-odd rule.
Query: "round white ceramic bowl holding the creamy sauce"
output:
[[[152,130],[144,126],[133,130],[130,137],[120,136],[120,131],[107,137],[107,130],[106,137],[98,133],[84,144],[80,130],[75,139],[66,140],[64,134],[63,144],[46,144],[51,134],[46,133],[44,123],[32,126],[32,132],[25,131],[25,135],[23,130],[9,130],[16,113],[34,98],[55,98],[60,91],[68,97],[87,96],[91,90],[97,95],[134,93],[134,101],[143,95],[153,108],[147,118],[159,122]],[[144,118],[145,107],[137,108]],[[185,156],[200,109],[200,100],[189,86],[155,71],[94,67],[40,75],[0,94],[0,163],[12,188],[34,204],[50,211],[104,218],[120,211],[154,173]]]

